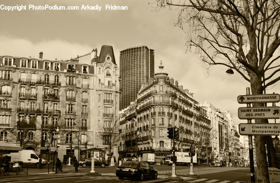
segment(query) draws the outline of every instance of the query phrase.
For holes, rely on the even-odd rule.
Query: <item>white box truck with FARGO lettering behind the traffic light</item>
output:
[[[172,165],[173,161],[171,161],[171,156],[173,154],[166,156],[166,164]],[[175,156],[177,156],[176,165],[186,165],[190,166],[191,156],[189,153],[185,152],[175,152]],[[193,163],[197,163],[197,153],[193,153]]]

